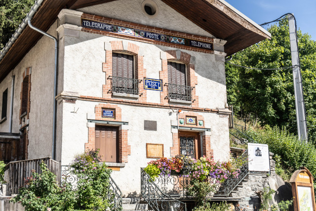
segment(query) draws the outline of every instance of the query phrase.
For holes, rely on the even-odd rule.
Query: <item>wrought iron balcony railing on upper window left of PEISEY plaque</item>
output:
[[[127,94],[139,94],[139,84],[142,80],[124,78],[118,76],[112,76],[110,78],[112,80],[111,83],[111,91],[118,93],[127,93]]]

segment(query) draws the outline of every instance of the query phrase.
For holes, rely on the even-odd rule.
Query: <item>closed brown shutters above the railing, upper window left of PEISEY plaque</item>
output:
[[[112,54],[113,76],[134,78],[134,56],[122,53]]]

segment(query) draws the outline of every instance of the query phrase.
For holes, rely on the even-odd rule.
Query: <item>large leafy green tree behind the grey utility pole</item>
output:
[[[291,51],[287,19],[268,29],[271,40],[254,44],[233,56],[230,63],[254,68],[253,70],[226,64],[228,102],[242,118],[255,120],[261,125],[288,127],[297,132]],[[297,31],[307,113],[309,139],[316,140],[316,42],[308,34]]]

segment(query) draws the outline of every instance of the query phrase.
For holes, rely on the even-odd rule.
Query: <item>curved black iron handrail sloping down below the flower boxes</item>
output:
[[[187,211],[187,204],[164,194],[144,168],[141,168],[141,195],[155,211],[170,211],[171,203],[174,211]]]

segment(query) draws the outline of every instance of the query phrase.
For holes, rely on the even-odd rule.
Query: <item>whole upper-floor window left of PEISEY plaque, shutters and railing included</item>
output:
[[[134,77],[134,56],[112,54],[112,92],[138,94],[139,81]]]

